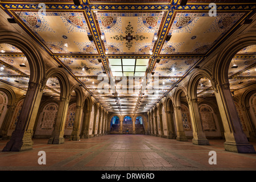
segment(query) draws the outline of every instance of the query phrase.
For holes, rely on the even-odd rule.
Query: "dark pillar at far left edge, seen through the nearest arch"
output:
[[[5,114],[5,118],[3,119],[3,123],[1,126],[0,135],[2,136],[3,140],[7,140],[7,133],[9,126],[11,124],[11,119],[13,118],[13,113],[15,110],[15,105],[7,105],[7,112]]]

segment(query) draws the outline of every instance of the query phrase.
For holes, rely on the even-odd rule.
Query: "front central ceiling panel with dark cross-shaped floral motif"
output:
[[[154,47],[161,13],[96,13],[109,54],[149,54]]]

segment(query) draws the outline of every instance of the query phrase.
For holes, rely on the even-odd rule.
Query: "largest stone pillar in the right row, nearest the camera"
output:
[[[238,153],[255,153],[254,147],[243,133],[240,118],[229,89],[229,83],[215,84],[216,100],[225,130],[225,150]]]

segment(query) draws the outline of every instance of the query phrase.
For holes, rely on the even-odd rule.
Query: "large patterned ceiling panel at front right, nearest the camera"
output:
[[[177,13],[160,54],[204,54],[244,13]]]

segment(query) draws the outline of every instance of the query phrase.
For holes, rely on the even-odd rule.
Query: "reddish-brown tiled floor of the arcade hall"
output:
[[[210,146],[197,146],[175,139],[149,135],[104,135],[46,144],[48,139],[33,139],[32,150],[0,152],[0,170],[69,171],[166,171],[166,170],[246,170],[256,171],[256,154],[224,150],[225,140],[210,140]],[[7,140],[0,140],[0,150]],[[256,143],[252,143],[256,150]],[[217,164],[210,165],[209,151],[216,151]],[[46,165],[39,165],[39,151],[46,152]]]

